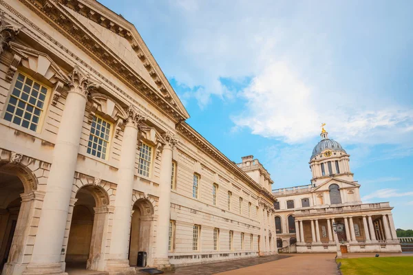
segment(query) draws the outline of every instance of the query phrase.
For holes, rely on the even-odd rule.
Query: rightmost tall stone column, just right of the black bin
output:
[[[162,148],[162,159],[160,162],[158,227],[156,228],[156,255],[153,263],[159,269],[165,270],[171,267],[168,258],[168,232],[171,214],[172,150],[177,140],[169,132],[162,137],[165,140],[165,144]]]

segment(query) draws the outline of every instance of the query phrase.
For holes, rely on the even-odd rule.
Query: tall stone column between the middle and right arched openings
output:
[[[123,131],[122,149],[116,187],[115,212],[112,227],[112,239],[109,249],[107,272],[134,272],[129,267],[128,248],[132,213],[132,193],[134,190],[136,143],[138,127],[145,120],[131,105],[127,109],[125,130]]]

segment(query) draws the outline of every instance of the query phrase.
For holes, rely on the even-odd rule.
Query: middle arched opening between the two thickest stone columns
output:
[[[103,270],[109,210],[107,193],[100,186],[86,185],[76,193],[72,210],[66,266]]]

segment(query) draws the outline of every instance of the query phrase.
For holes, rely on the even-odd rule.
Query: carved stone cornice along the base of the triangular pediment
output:
[[[132,91],[135,91],[142,98],[151,102],[162,113],[165,113],[171,120],[179,122],[189,118],[186,111],[178,108],[176,100],[171,99],[170,94],[171,92],[174,94],[173,90],[163,93],[162,90],[159,92],[153,88],[133,68],[110,50],[107,45],[87,30],[72,14],[67,12],[63,8],[63,3],[59,3],[57,0],[20,1],[72,43],[85,50],[97,63],[105,67],[109,72],[112,72],[114,76],[122,80]],[[145,67],[149,68],[148,65],[145,65]]]

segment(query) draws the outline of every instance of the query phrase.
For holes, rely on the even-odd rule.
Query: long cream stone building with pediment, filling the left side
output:
[[[123,17],[94,0],[0,1],[2,274],[276,253],[269,174],[187,118]]]

